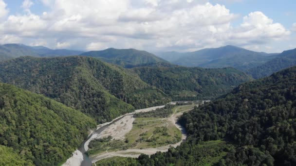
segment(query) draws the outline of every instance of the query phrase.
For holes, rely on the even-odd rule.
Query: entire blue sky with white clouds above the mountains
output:
[[[0,44],[195,51],[296,48],[294,0],[0,0]]]

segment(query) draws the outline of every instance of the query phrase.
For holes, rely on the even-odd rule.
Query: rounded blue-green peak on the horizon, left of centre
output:
[[[110,48],[106,50],[84,52],[80,55],[99,58],[102,61],[127,68],[143,64],[167,63],[165,60],[152,53],[135,49]]]

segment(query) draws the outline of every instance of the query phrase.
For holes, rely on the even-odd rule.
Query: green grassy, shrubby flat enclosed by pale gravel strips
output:
[[[90,142],[88,155],[99,154],[106,150],[142,149],[161,147],[181,141],[181,132],[166,119],[157,117],[137,117],[133,127],[125,135],[125,140],[112,140],[111,137],[95,139]]]

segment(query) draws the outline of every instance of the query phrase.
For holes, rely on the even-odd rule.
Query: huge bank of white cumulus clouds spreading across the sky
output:
[[[2,3],[1,3],[2,2]],[[23,7],[30,8],[31,0]],[[262,12],[239,15],[206,0],[41,0],[41,15],[27,12],[0,22],[0,34],[44,41],[53,48],[194,50],[224,44],[264,44],[290,34]],[[3,5],[4,4],[4,5]],[[6,4],[0,0],[0,17]],[[37,42],[38,43],[38,42]],[[44,43],[44,42],[41,42]],[[26,44],[26,43],[24,43]]]

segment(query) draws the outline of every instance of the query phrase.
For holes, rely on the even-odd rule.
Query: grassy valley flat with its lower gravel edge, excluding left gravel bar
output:
[[[177,123],[177,118],[184,112],[192,110],[194,106],[194,104],[176,106],[172,109],[171,116],[166,118],[136,117],[133,128],[125,135],[125,140],[128,141],[113,140],[105,145],[103,144],[100,147],[102,149],[96,151],[99,153],[96,153],[96,155],[92,153],[91,149],[92,163],[114,156],[135,158],[141,153],[151,155],[157,151],[165,152],[170,147],[179,146],[185,141],[186,132]],[[122,122],[126,123],[127,121],[123,120]],[[156,130],[160,131],[155,132]]]

